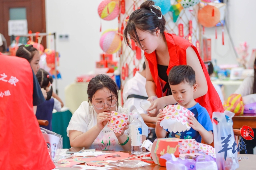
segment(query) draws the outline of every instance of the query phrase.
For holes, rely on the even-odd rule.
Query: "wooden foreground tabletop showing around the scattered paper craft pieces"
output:
[[[113,152],[117,152],[117,151],[105,151],[105,152],[106,153],[113,153]],[[125,153],[131,154],[131,152],[125,152]],[[254,162],[256,160],[256,155],[238,154],[237,156],[242,157],[242,159],[240,161],[238,161],[239,168],[237,168],[236,170],[255,169]],[[248,159],[245,159],[245,158],[243,159],[243,157],[247,157]],[[80,164],[80,165],[84,165],[84,164]],[[110,163],[108,165],[112,165],[112,164]],[[115,166],[115,165],[113,165],[113,166]],[[112,167],[112,169],[113,170],[131,170],[131,168],[126,168],[126,167]],[[166,170],[166,167],[158,166],[157,164],[152,163],[151,165],[148,165],[148,166],[138,167],[138,168],[133,168],[133,169],[136,169],[136,170]],[[62,168],[62,170],[65,170],[65,169]]]

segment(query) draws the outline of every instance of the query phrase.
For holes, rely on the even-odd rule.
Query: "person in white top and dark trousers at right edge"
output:
[[[236,89],[235,93],[241,94],[242,97],[256,93],[256,59],[254,61],[254,76],[244,78],[244,81],[238,89]],[[252,130],[255,134],[256,129]],[[244,140],[244,144],[246,144],[247,154],[256,154],[256,138],[253,138],[252,140]],[[255,152],[253,152],[253,150],[255,150]],[[244,150],[240,151],[240,154],[245,154]]]

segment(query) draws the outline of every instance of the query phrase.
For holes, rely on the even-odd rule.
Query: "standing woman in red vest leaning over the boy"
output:
[[[177,65],[189,65],[195,70],[198,90],[194,99],[207,109],[210,117],[214,111],[224,112],[196,47],[184,38],[165,32],[165,24],[161,8],[155,6],[154,1],[145,1],[140,9],[132,12],[124,29],[126,44],[131,48],[131,38],[145,54],[146,91],[151,102],[147,111],[153,110],[148,114],[156,116],[159,109],[175,104],[168,75],[172,67]]]

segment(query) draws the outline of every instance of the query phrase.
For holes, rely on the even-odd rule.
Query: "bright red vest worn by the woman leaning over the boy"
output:
[[[196,55],[200,61],[202,69],[204,71],[204,76],[206,78],[207,85],[208,85],[208,92],[204,96],[197,98],[196,102],[198,102],[201,106],[206,108],[206,110],[208,111],[211,118],[212,118],[212,112],[223,113],[224,109],[223,109],[220,97],[219,97],[218,93],[216,92],[214,86],[212,85],[208,71],[204,65],[203,60],[199,56],[196,47],[193,46],[193,44],[191,44],[189,41],[187,41],[184,38],[181,38],[179,36],[172,35],[172,34],[165,33],[165,32],[164,32],[164,35],[165,35],[165,39],[167,41],[168,51],[169,51],[169,55],[170,55],[170,61],[169,61],[168,69],[166,72],[167,75],[169,75],[169,72],[173,66],[187,64],[186,49],[189,46],[193,47],[196,52]],[[144,54],[148,61],[151,75],[154,79],[154,82],[156,83],[156,95],[158,98],[163,97],[164,93],[162,92],[160,78],[158,77],[156,52],[154,51],[151,54],[148,54],[145,52]]]

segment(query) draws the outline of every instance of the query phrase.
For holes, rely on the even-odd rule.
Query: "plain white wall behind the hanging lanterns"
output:
[[[58,80],[59,96],[65,102],[65,86],[75,81],[79,75],[85,74],[95,68],[102,50],[99,45],[100,17],[98,5],[102,0],[45,0],[46,30],[58,34],[67,33],[69,41],[59,41],[56,47],[60,52],[60,73],[62,79]],[[235,46],[247,41],[249,54],[256,48],[255,28],[256,22],[255,0],[229,0],[228,23],[229,31]],[[117,19],[113,21],[102,20],[102,31],[116,28]],[[218,27],[218,39],[215,40],[215,28],[205,28],[205,35],[212,38],[212,58],[218,64],[237,64],[234,50],[230,44],[227,30],[225,30],[225,45],[222,45],[221,27]]]

